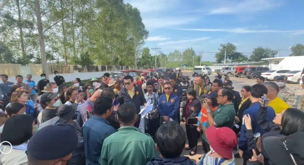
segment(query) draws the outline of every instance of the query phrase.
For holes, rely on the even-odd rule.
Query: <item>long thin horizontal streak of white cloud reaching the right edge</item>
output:
[[[290,33],[290,34],[304,34],[304,30],[255,30],[247,28],[233,28],[233,29],[204,29],[204,28],[172,28],[185,31],[214,31],[214,32],[228,32],[228,33]]]

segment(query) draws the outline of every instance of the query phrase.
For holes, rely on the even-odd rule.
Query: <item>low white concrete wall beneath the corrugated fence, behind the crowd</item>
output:
[[[60,74],[61,76],[64,77],[65,82],[69,82],[74,80],[75,78],[80,78],[81,80],[86,80],[86,79],[91,79],[93,77],[101,77],[104,73],[106,73],[107,71],[103,71],[103,72],[88,72],[88,73],[72,73],[72,74]],[[111,71],[108,71],[109,73],[111,73]],[[26,80],[26,76],[23,76],[23,80]],[[50,74],[48,80],[50,80],[50,82],[55,82],[54,81],[54,77],[55,74]],[[33,75],[32,80],[34,80],[36,82],[36,84],[38,83],[39,80],[41,80],[41,77],[38,75]],[[9,81],[16,83],[16,78],[10,76],[9,77]]]

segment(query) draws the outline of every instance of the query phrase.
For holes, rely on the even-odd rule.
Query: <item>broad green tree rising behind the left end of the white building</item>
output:
[[[261,61],[262,58],[271,58],[275,57],[278,51],[272,50],[270,48],[258,47],[254,48],[252,54],[250,55],[250,61]]]

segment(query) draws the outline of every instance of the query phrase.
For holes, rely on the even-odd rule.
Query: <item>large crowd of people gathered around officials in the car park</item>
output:
[[[181,153],[196,155],[199,139],[200,165],[230,165],[240,157],[244,165],[304,164],[304,85],[289,89],[285,76],[258,77],[239,93],[230,77],[211,82],[181,70],[136,80],[105,73],[89,84],[75,78],[71,86],[54,74],[54,82],[41,74],[37,85],[31,74],[24,81],[17,75],[16,83],[0,75],[0,164],[194,165]],[[141,117],[149,100],[152,110]],[[54,118],[56,124],[37,130]]]

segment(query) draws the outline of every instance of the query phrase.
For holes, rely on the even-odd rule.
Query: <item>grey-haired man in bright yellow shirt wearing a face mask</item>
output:
[[[268,106],[275,110],[275,114],[289,108],[288,104],[278,97],[279,86],[275,82],[267,81],[263,83],[267,87],[267,98],[270,99]]]

